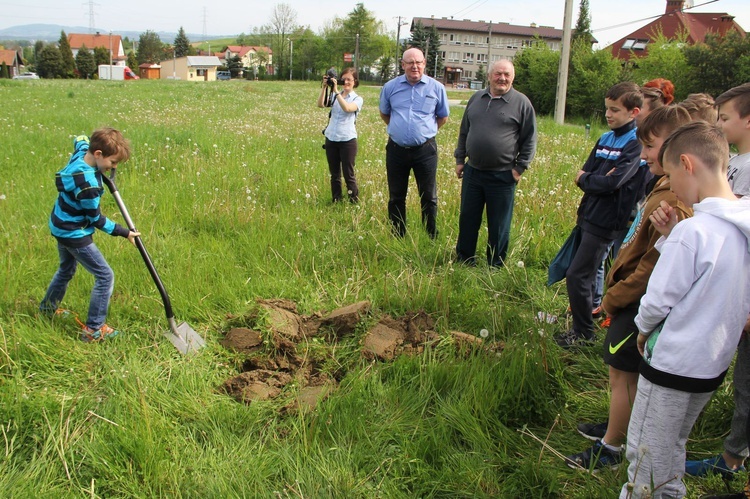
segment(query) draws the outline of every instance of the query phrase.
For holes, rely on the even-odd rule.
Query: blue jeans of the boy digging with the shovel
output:
[[[57,252],[60,255],[60,267],[52,277],[52,282],[47,288],[47,294],[44,295],[39,310],[43,313],[52,314],[65,297],[65,291],[68,289],[68,283],[76,273],[76,268],[80,263],[91,275],[94,276],[94,289],[91,290],[91,299],[89,301],[89,314],[86,319],[86,325],[98,330],[107,320],[107,309],[109,308],[109,298],[112,296],[112,290],[115,287],[115,274],[109,267],[109,264],[102,256],[96,244],[91,243],[83,248],[69,248],[57,243]]]

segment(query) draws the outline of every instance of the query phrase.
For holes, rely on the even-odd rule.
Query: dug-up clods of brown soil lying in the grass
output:
[[[321,369],[332,358],[332,347],[364,327],[367,331],[360,340],[360,351],[369,360],[421,354],[439,340],[433,330],[434,319],[424,311],[396,318],[384,315],[368,325],[374,321],[368,301],[307,316],[289,300],[257,300],[256,305],[252,313],[230,318],[234,326],[229,326],[220,341],[225,348],[247,355],[242,372],[220,388],[245,404],[275,399],[294,383],[296,396],[285,409],[314,408],[338,386],[335,375]],[[482,342],[465,333],[451,334],[459,343]]]

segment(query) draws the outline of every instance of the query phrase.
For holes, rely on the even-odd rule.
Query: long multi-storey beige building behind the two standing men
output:
[[[440,35],[440,52],[445,69],[436,78],[446,85],[463,86],[474,79],[479,66],[500,59],[513,60],[516,52],[535,43],[546,43],[560,50],[563,32],[550,26],[516,26],[509,23],[415,17],[411,30],[421,22],[425,28],[435,26]],[[435,54],[425,54],[435,57]],[[431,75],[433,76],[433,75]]]

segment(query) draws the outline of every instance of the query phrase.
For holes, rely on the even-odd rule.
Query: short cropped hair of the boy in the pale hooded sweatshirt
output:
[[[716,125],[691,121],[672,132],[659,149],[659,163],[679,163],[681,154],[692,154],[710,170],[729,166],[729,143]]]

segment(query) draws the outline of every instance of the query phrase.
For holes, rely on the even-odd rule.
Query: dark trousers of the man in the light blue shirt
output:
[[[385,146],[385,168],[388,175],[388,218],[394,233],[406,234],[406,194],[409,174],[414,170],[422,224],[431,238],[437,235],[437,143],[429,139],[420,147],[401,147],[392,140]]]

